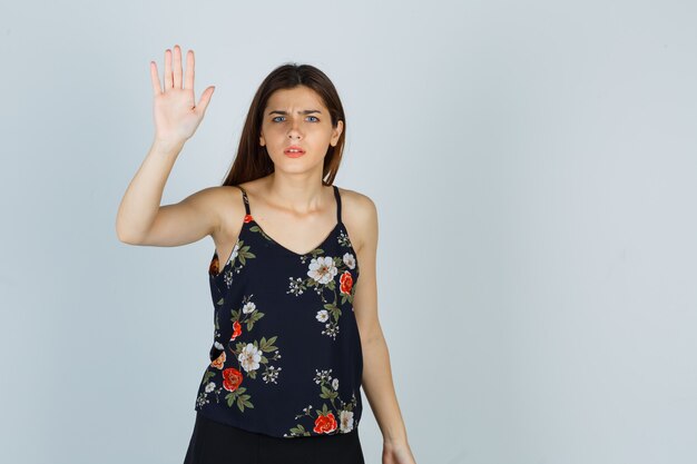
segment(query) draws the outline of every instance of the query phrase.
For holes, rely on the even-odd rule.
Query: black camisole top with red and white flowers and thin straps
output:
[[[195,409],[266,435],[348,433],[361,419],[363,353],[353,310],[356,253],[341,220],[297,254],[246,215],[229,258],[208,268],[214,343]]]

